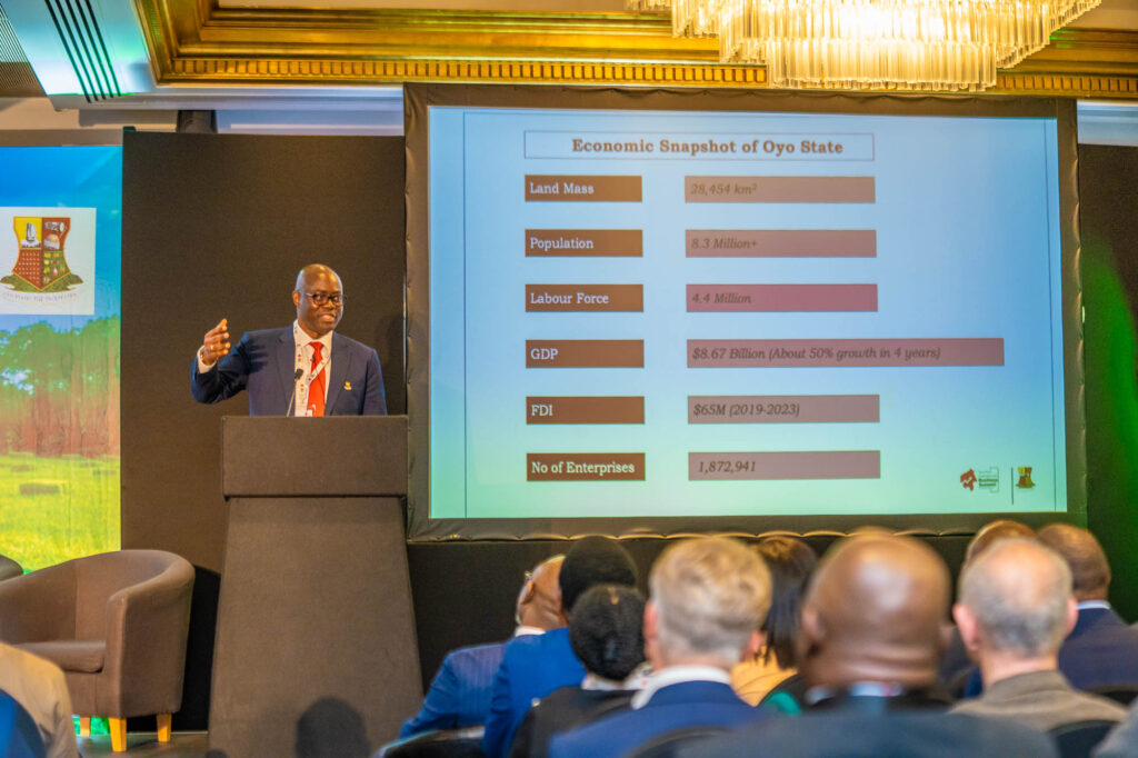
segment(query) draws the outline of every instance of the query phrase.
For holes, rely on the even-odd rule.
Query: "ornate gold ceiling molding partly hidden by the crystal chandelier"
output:
[[[221,8],[134,0],[158,84],[403,82],[764,88],[714,39],[635,13]],[[1138,99],[1138,32],[1062,30],[991,92]]]

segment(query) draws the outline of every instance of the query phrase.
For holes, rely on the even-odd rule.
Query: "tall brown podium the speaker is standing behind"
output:
[[[211,755],[370,755],[418,710],[406,440],[406,417],[222,420]]]

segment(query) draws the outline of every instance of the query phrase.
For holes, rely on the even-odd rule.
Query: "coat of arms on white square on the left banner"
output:
[[[0,273],[11,261],[10,273],[0,278],[0,313],[92,313],[94,209],[0,211],[10,214],[13,230],[9,245],[0,248]]]

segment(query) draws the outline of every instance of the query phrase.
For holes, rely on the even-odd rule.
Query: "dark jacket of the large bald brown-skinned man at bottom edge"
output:
[[[770,718],[681,752],[683,758],[1053,758],[1055,755],[1055,744],[1046,734],[1011,722],[929,709],[846,707]]]

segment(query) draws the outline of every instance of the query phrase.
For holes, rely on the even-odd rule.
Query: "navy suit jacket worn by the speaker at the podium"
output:
[[[249,415],[284,415],[292,396],[295,371],[292,327],[249,331],[205,373],[198,372],[198,361],[193,359],[190,393],[199,403],[218,403],[247,389]],[[332,332],[327,381],[325,415],[387,413],[379,355],[363,343]]]

